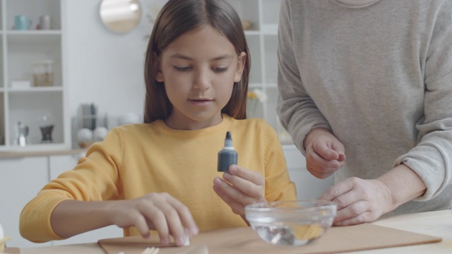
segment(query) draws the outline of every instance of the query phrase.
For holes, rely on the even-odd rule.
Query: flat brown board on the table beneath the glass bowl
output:
[[[250,228],[220,229],[204,231],[191,239],[191,246],[163,247],[158,236],[149,239],[140,236],[123,238],[109,238],[99,240],[98,243],[107,254],[141,254],[150,246],[160,247],[159,254],[190,253],[190,248],[206,245],[209,253],[343,253],[357,250],[371,250],[397,246],[410,246],[424,243],[437,243],[442,238],[424,234],[412,233],[400,229],[374,224],[359,224],[355,226],[335,226],[326,234],[309,243],[307,246],[273,246],[266,243]]]

